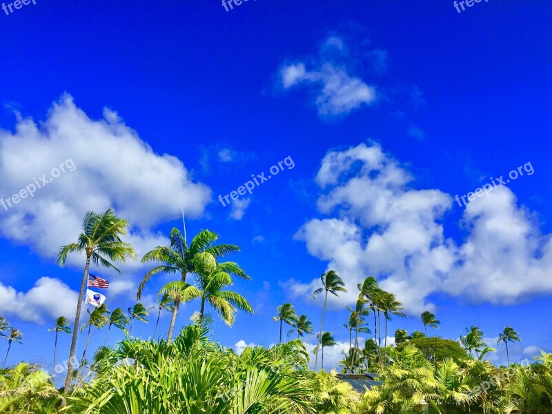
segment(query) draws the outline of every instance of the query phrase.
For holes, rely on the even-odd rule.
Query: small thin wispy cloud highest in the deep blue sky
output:
[[[348,68],[350,64],[342,64],[334,59],[336,54],[344,57],[345,50],[342,38],[328,37],[321,46],[319,59],[298,60],[282,65],[279,70],[282,87],[288,89],[303,85],[314,91],[319,115],[347,114],[362,106],[372,105],[377,99],[375,87],[351,75],[353,69]],[[378,61],[385,60],[382,51],[377,55]]]

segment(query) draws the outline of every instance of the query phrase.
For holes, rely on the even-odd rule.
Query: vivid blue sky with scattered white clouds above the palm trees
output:
[[[288,301],[319,326],[312,291],[333,268],[349,293],[330,303],[324,330],[340,345],[328,364],[367,275],[408,312],[389,336],[422,329],[430,309],[444,337],[477,324],[491,343],[511,325],[523,339],[513,360],[552,351],[549,2],[36,3],[0,10],[0,197],[68,167],[0,206],[0,314],[25,335],[9,363],[50,365],[46,329],[74,315],[83,267],[60,268],[55,252],[108,206],[130,220],[139,255],[181,227],[182,207],[188,235],[208,228],[242,247],[233,259],[253,280],[234,288],[255,315],[215,323],[225,346],[277,342],[272,317]],[[252,194],[217,201],[286,157]],[[524,174],[455,201],[511,170]],[[122,268],[92,270],[111,282],[111,309],[135,302],[148,270]],[[502,348],[489,358],[504,362]]]

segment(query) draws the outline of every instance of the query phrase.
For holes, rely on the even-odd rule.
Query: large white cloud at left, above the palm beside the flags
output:
[[[181,208],[199,217],[211,198],[177,157],[156,154],[116,112],[104,109],[103,119],[90,119],[70,95],[54,103],[40,124],[19,117],[15,132],[0,130],[1,197],[19,193],[34,177],[49,177],[67,159],[74,171],[12,208],[0,208],[3,237],[52,257],[79,234],[86,211],[114,206],[132,225],[129,241],[146,250],[162,239],[152,227],[179,217]]]

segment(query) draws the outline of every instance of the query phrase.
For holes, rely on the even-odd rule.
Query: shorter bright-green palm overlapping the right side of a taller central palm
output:
[[[217,263],[216,258],[208,252],[196,255],[195,262],[197,284],[199,284],[201,292],[199,324],[203,324],[206,302],[228,326],[234,324],[238,309],[253,313],[253,308],[245,297],[231,290],[223,290],[224,287],[234,283],[232,276],[250,279],[242,268],[234,262]]]

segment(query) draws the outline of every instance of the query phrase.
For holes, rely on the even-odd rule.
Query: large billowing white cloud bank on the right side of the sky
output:
[[[444,214],[452,197],[438,189],[416,189],[413,177],[377,144],[330,151],[316,176],[323,189],[321,213],[295,234],[308,253],[328,262],[349,288],[328,297],[340,308],[354,302],[356,284],[379,279],[410,313],[433,309],[432,293],[472,302],[513,304],[552,293],[550,235],[517,206],[509,188],[471,201],[462,219],[463,243],[444,237]],[[331,234],[332,237],[327,237]],[[319,279],[288,280],[293,296],[308,297]]]

